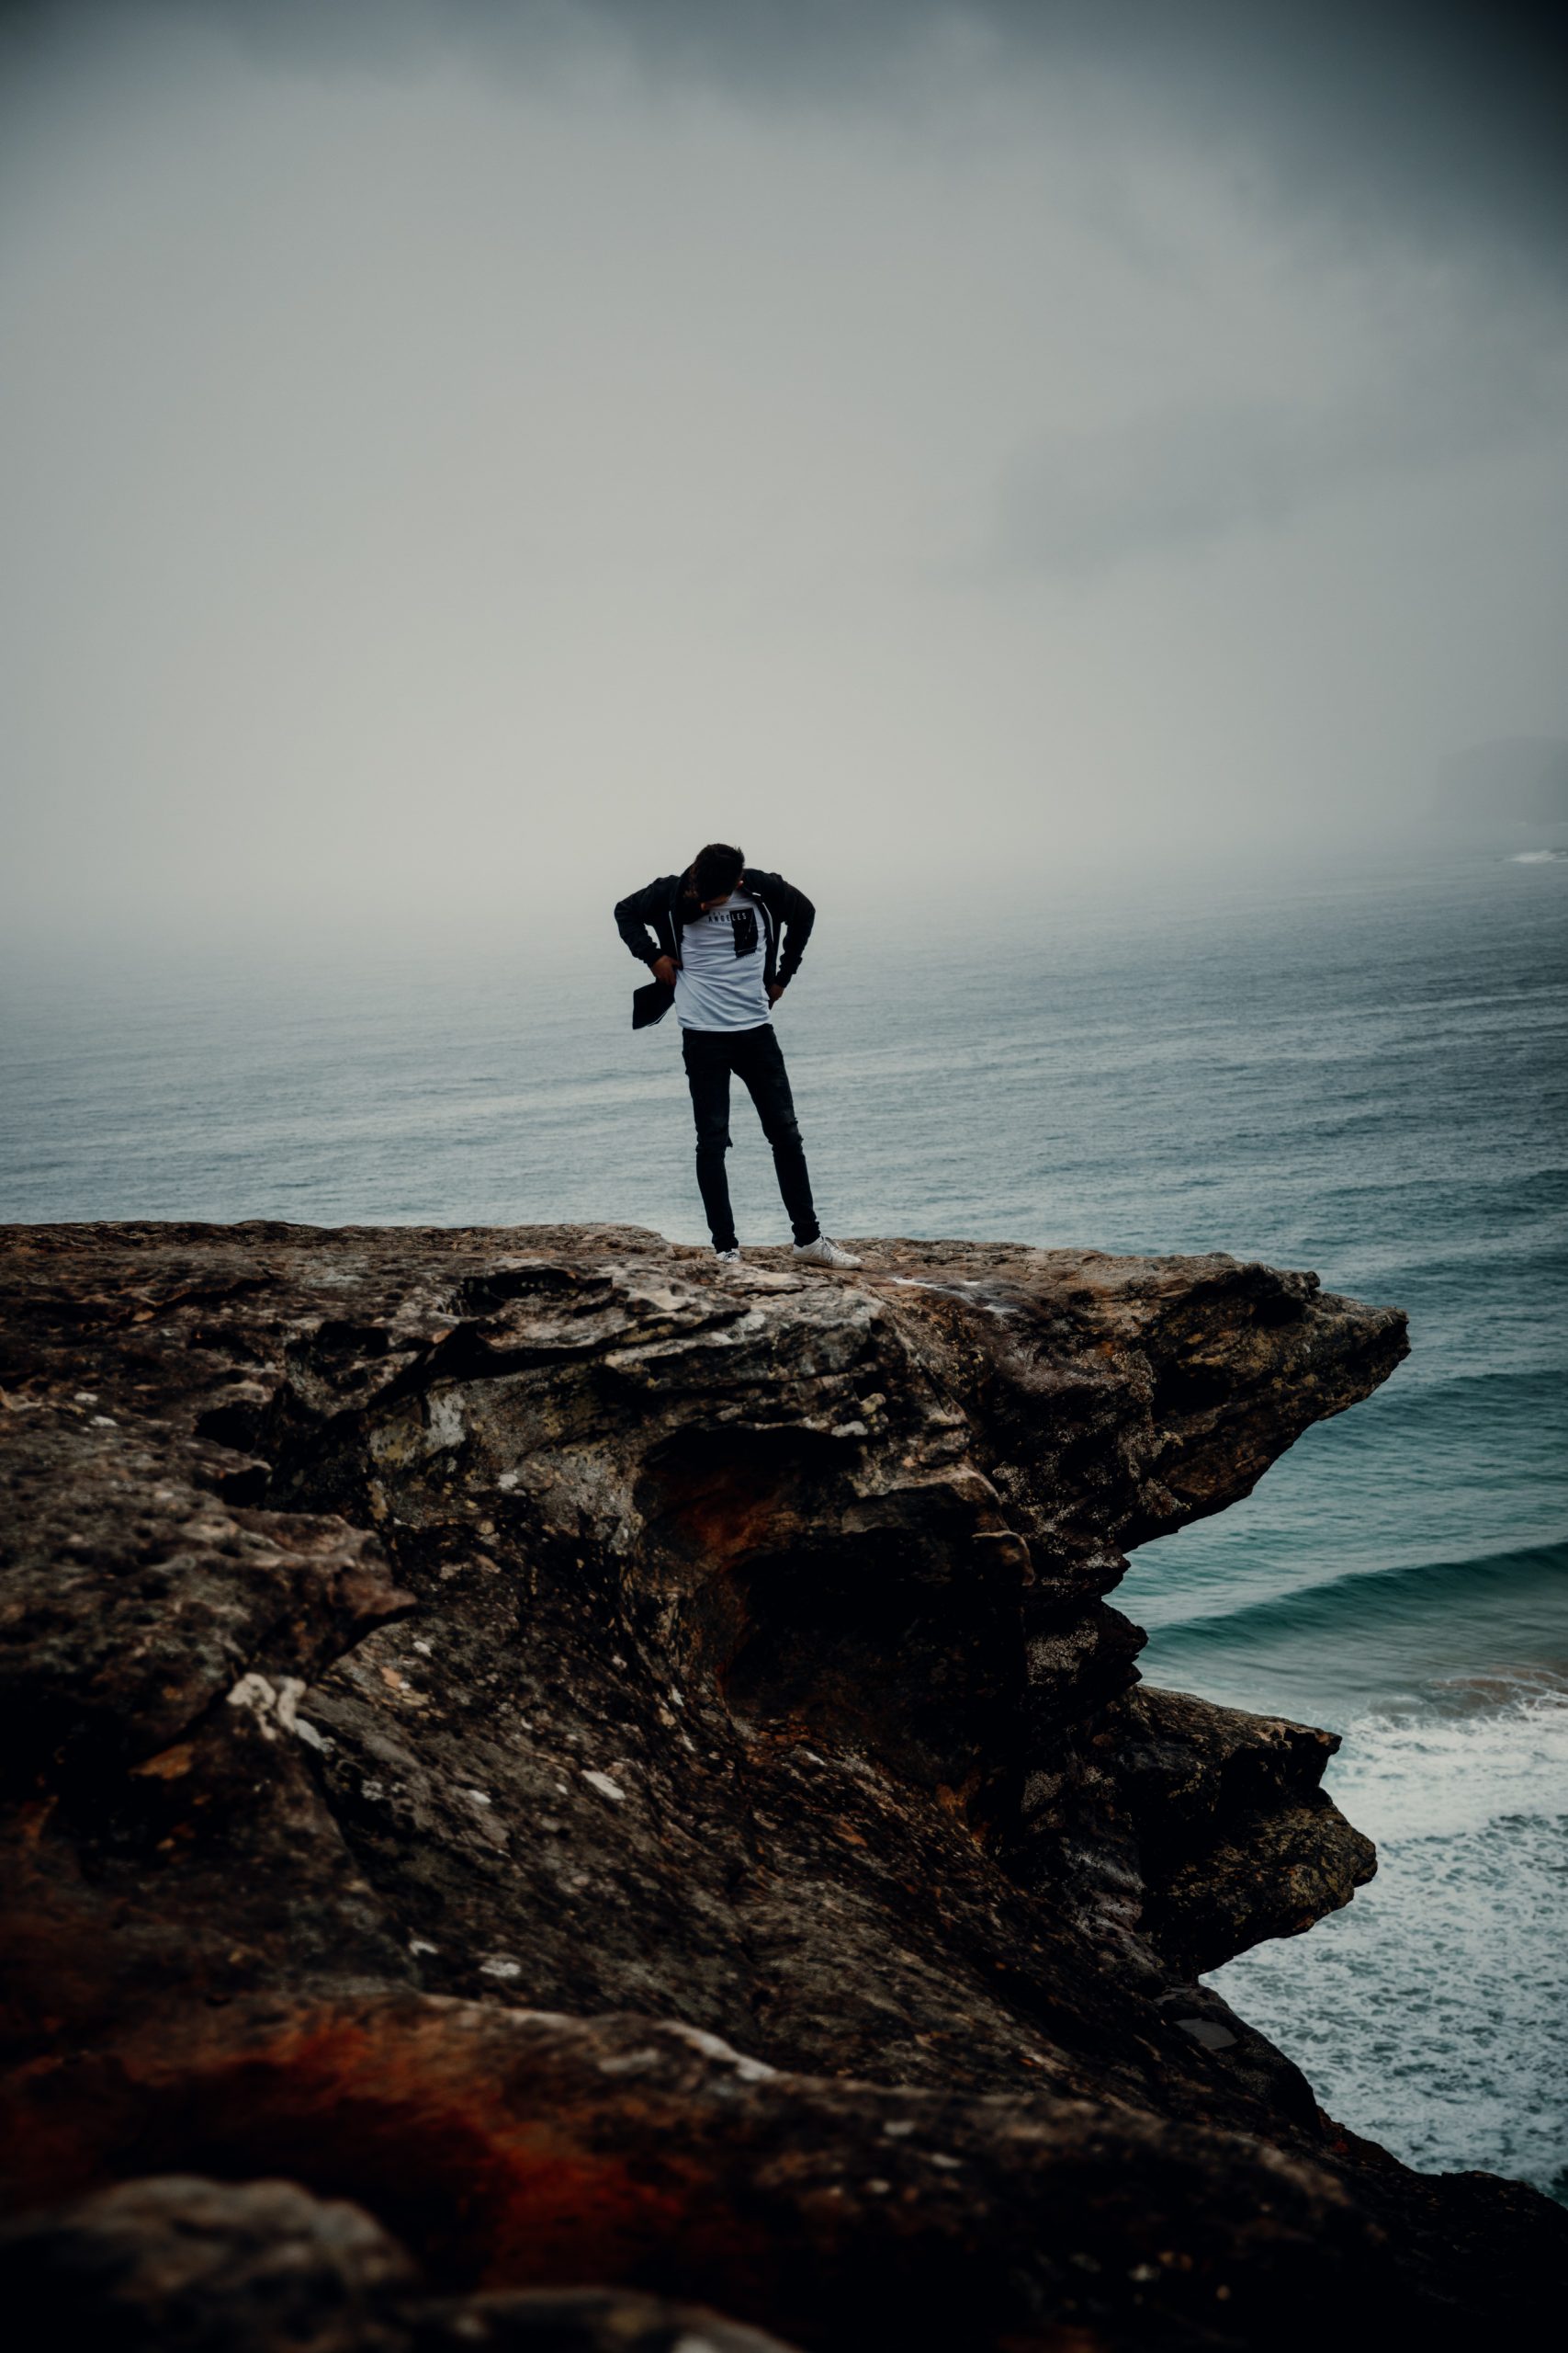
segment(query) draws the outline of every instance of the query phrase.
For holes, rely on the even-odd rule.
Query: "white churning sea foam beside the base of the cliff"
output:
[[[1356,2132],[1561,2198],[1568,1687],[1533,1673],[1446,1699],[1345,1737],[1333,1795],[1378,1840],[1373,1885],[1215,1984]]]

